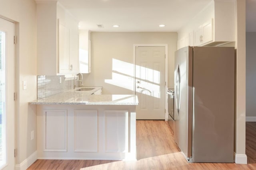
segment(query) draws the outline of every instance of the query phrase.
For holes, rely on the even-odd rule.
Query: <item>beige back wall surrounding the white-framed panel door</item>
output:
[[[129,76],[133,72],[134,44],[167,44],[168,45],[168,86],[174,86],[174,51],[177,47],[177,33],[173,32],[92,32],[92,72],[84,74],[84,86],[103,86],[103,94],[132,94],[128,87],[132,86]],[[115,62],[126,63],[128,72],[122,74],[124,80],[112,80],[113,71],[118,69]],[[126,69],[127,70],[127,69]],[[120,71],[122,72],[122,71]],[[118,84],[118,85],[113,85]],[[125,87],[125,88],[124,88]]]

